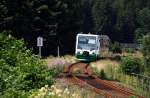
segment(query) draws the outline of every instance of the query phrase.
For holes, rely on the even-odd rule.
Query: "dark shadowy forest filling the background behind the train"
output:
[[[0,32],[23,38],[34,53],[74,54],[78,33],[108,35],[112,42],[139,43],[150,32],[149,0],[1,0]],[[54,43],[55,42],[55,43]],[[69,42],[69,43],[68,43]]]

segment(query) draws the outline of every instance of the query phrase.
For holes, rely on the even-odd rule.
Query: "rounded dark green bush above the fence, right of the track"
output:
[[[124,73],[141,73],[143,72],[143,63],[139,58],[134,57],[123,57],[121,58],[121,70]]]

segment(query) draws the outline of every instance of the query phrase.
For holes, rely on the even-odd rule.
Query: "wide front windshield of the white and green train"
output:
[[[96,50],[95,36],[79,36],[78,49]]]

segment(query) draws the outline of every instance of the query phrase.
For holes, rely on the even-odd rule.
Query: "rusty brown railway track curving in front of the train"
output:
[[[88,86],[105,98],[129,98],[131,96],[144,98],[134,94],[132,90],[92,75],[89,63],[77,62],[71,64],[65,68],[64,73],[65,77],[68,78],[71,83]]]

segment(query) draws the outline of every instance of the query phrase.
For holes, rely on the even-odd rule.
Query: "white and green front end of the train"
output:
[[[80,61],[96,61],[100,57],[100,36],[77,34],[75,56]]]

